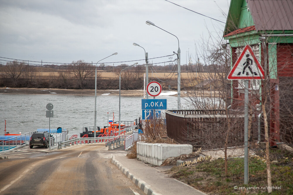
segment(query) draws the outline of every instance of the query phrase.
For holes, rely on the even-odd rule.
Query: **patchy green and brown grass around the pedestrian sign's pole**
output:
[[[279,156],[278,163],[271,163],[274,187],[272,194],[293,194],[293,157],[291,155],[288,153],[284,156],[282,151],[277,150],[272,152],[272,156]],[[228,160],[227,177],[224,159],[201,162],[187,167],[174,166],[169,174],[196,189],[212,194],[267,194],[268,191],[265,188],[267,186],[266,163],[256,157],[249,158],[248,185],[244,185],[244,158]]]

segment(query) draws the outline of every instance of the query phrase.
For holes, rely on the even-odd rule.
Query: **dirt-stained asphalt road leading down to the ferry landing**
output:
[[[47,151],[25,146],[0,160],[0,194],[144,194],[110,161],[104,145]],[[3,155],[2,155],[3,156]]]

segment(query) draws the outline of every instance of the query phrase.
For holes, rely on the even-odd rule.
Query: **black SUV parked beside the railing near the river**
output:
[[[34,132],[32,134],[32,137],[30,137],[30,148],[33,148],[33,146],[45,146],[45,148],[48,148],[50,137],[53,137],[53,135],[51,135],[47,131]],[[54,145],[54,139],[51,141],[51,146],[53,145]]]

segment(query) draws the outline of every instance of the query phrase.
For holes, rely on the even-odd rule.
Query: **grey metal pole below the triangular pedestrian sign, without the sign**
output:
[[[244,184],[248,184],[248,82],[244,80]]]

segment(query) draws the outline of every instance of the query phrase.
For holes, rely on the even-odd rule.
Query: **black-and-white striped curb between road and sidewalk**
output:
[[[122,173],[124,175],[126,175],[126,177],[128,177],[130,180],[132,180],[132,182],[137,186],[139,187],[139,189],[141,189],[144,194],[147,194],[147,195],[161,195],[161,194],[158,194],[156,192],[154,192],[152,189],[151,189],[151,186],[149,184],[147,184],[146,182],[144,182],[143,180],[139,179],[139,178],[136,178],[134,175],[132,175],[129,170],[125,167],[123,167],[123,165],[117,161],[115,159],[115,156],[112,156],[112,161],[111,163],[113,163],[116,167],[118,167],[118,169],[120,171],[122,171]]]

